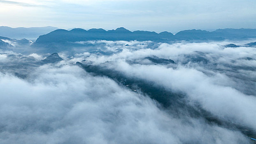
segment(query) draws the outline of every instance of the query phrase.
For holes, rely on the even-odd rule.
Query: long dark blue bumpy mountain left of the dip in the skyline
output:
[[[41,35],[33,46],[48,46],[51,43],[78,42],[88,40],[138,40],[138,41],[164,41],[172,39],[172,33],[155,33],[149,31],[134,31],[131,32],[125,28],[117,28],[116,30],[90,29],[84,30],[75,28],[73,30],[54,30],[47,35]]]

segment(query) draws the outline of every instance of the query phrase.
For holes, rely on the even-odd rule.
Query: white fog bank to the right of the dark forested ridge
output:
[[[256,129],[256,49],[225,48],[219,43],[161,44],[157,49],[123,49],[112,56],[90,56],[94,64],[112,59],[111,69],[129,77],[154,81],[172,91],[185,92],[191,102],[227,121]],[[143,58],[156,55],[172,59],[177,65],[145,65]],[[203,57],[209,62],[191,62]],[[140,60],[129,64],[128,60]],[[136,61],[138,62],[138,61]]]

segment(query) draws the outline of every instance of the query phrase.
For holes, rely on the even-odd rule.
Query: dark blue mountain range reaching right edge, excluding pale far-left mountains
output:
[[[169,32],[149,32],[149,31],[133,31],[125,28],[117,28],[116,30],[104,29],[90,29],[84,30],[81,28],[74,28],[72,30],[58,29],[46,35],[41,35],[37,38],[33,46],[49,46],[51,44],[63,44],[67,42],[79,42],[88,40],[111,40],[111,41],[156,41],[156,42],[170,42],[170,41],[216,41],[224,39],[249,39],[256,38],[256,29],[218,29],[213,32],[206,30],[183,30],[173,35]]]

